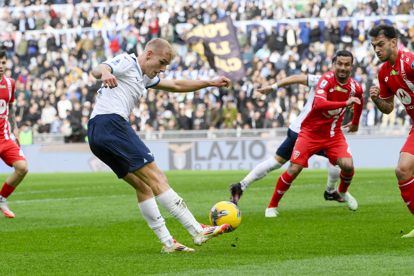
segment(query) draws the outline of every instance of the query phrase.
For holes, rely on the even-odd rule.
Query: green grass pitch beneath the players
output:
[[[304,170],[265,218],[282,170],[248,187],[242,222],[193,247],[160,207],[174,238],[195,252],[161,254],[134,190],[113,173],[29,174],[9,197],[16,218],[0,217],[2,275],[414,275],[414,217],[392,169],[356,170],[349,192],[359,209],[323,199],[327,170]],[[229,199],[247,171],[171,171],[169,184],[200,223]],[[0,174],[0,180],[7,175]],[[231,245],[236,245],[232,247]]]

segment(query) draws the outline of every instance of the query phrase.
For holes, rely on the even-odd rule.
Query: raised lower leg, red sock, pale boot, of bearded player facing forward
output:
[[[341,173],[339,174],[341,182],[337,188],[337,193],[340,197],[342,197],[342,199],[344,199],[344,202],[347,204],[348,208],[352,211],[355,211],[358,209],[358,203],[356,202],[356,199],[348,192],[348,187],[351,184],[352,178],[354,177],[354,163],[352,161],[352,158],[338,158],[335,160],[335,163],[337,163],[339,168],[341,168]]]

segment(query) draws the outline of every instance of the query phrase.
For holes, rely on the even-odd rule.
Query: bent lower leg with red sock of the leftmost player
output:
[[[3,215],[8,218],[14,218],[14,213],[10,211],[6,199],[14,191],[17,185],[22,182],[24,176],[29,170],[27,168],[27,162],[25,160],[14,161],[12,163],[12,166],[14,167],[15,171],[9,175],[3,184],[2,189],[0,190],[0,210],[2,211]]]

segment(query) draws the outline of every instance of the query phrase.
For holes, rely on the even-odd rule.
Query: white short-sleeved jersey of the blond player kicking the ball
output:
[[[159,77],[150,79],[142,75],[140,64],[132,53],[131,55],[117,55],[105,63],[112,69],[118,86],[109,89],[101,86],[96,97],[96,105],[91,114],[91,119],[100,114],[118,114],[128,121],[128,117],[140,99],[144,89],[159,83]]]

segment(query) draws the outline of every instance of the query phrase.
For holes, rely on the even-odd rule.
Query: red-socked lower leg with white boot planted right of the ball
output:
[[[272,199],[265,210],[265,217],[276,217],[279,214],[277,206],[280,199],[282,199],[284,193],[289,189],[293,180],[295,180],[303,168],[304,166],[301,164],[290,162],[287,170],[277,180],[276,189],[274,189]]]

